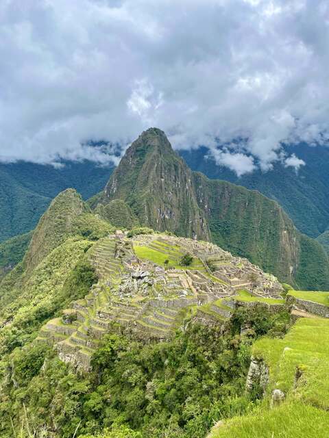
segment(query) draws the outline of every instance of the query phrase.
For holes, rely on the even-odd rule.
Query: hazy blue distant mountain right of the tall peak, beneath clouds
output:
[[[329,226],[329,149],[325,146],[297,144],[285,146],[287,155],[295,154],[305,166],[298,172],[274,163],[267,172],[256,170],[237,177],[232,170],[218,166],[205,147],[180,151],[188,166],[210,179],[223,179],[258,190],[277,201],[293,220],[297,229],[317,237]]]

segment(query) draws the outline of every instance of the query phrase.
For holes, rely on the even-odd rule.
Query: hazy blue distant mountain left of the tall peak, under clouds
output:
[[[88,161],[62,162],[60,168],[0,164],[0,242],[34,229],[51,200],[66,188],[90,198],[104,187],[112,169]]]

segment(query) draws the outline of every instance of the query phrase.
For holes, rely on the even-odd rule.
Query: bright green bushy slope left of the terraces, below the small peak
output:
[[[88,240],[71,238],[54,249],[30,276],[10,272],[14,284],[1,283],[1,355],[34,339],[40,326],[75,296],[82,298],[95,279],[86,262]],[[17,267],[19,268],[19,267]],[[5,277],[6,279],[6,277]]]

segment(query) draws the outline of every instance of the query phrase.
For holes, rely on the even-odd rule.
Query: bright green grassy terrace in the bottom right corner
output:
[[[297,320],[284,339],[259,339],[253,354],[269,365],[267,396],[252,413],[226,420],[210,437],[328,437],[328,339],[329,320],[324,318]],[[300,376],[297,383],[296,370]],[[284,391],[286,399],[269,409],[275,388]]]

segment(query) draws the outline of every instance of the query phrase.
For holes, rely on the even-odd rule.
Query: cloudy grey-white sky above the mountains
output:
[[[298,170],[282,145],[329,144],[328,47],[328,0],[1,0],[0,161],[117,163],[90,140],[159,127]]]

